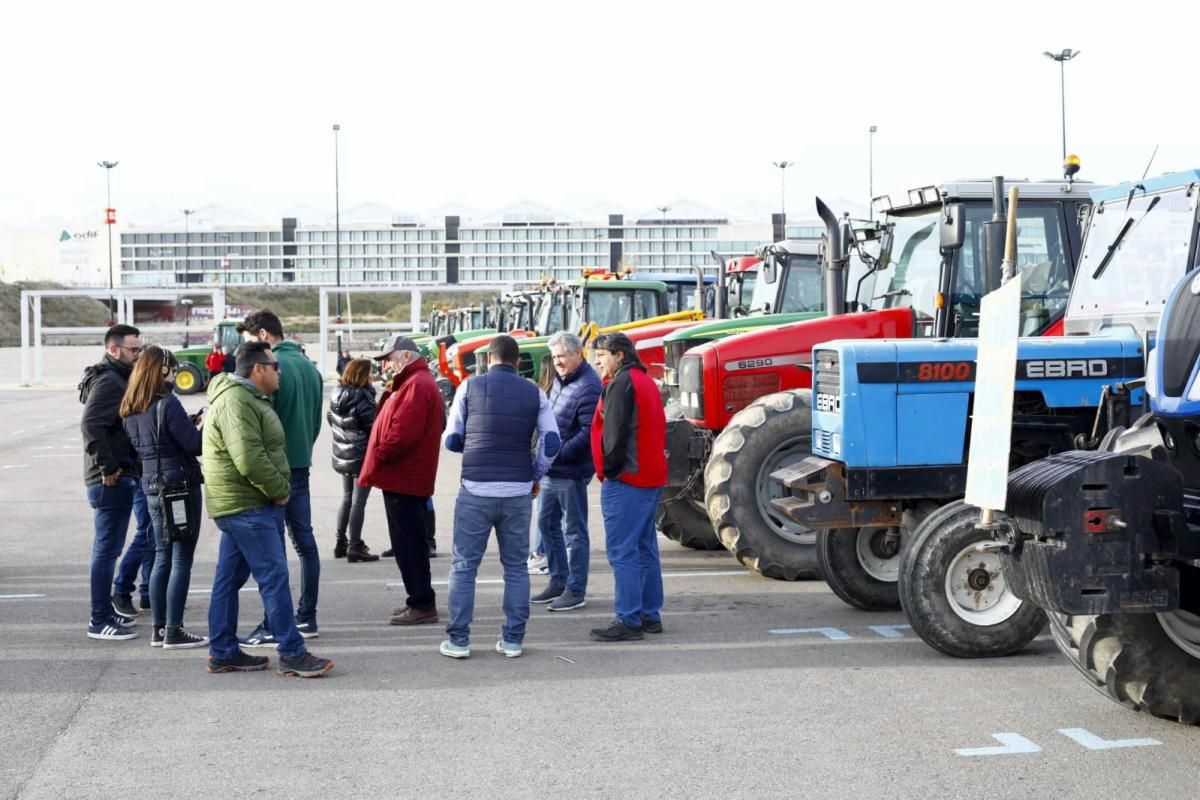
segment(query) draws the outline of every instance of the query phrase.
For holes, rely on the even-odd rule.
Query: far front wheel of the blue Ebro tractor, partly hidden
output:
[[[817,531],[817,564],[833,593],[868,612],[900,608],[900,535],[890,528]]]

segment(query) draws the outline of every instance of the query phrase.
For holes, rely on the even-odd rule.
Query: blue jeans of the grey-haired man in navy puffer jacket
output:
[[[541,479],[538,494],[538,533],[546,547],[550,585],[588,591],[588,483],[590,477]],[[563,521],[566,536],[563,536]]]

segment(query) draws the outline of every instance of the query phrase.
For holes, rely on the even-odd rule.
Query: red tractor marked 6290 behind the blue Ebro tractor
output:
[[[1038,257],[1042,283],[1055,293],[1049,301],[1031,297],[1040,313],[1031,314],[1028,332],[1051,333],[1058,330],[1079,254],[1090,185],[1019,185],[1027,198],[1019,212],[1021,245],[1028,257]],[[811,452],[812,348],[835,338],[935,336],[938,291],[972,296],[983,269],[974,246],[954,251],[948,261],[942,258],[938,215],[946,205],[959,205],[968,227],[977,227],[991,216],[991,181],[947,182],[878,198],[882,225],[827,234],[832,245],[824,260],[832,266],[840,259],[841,270],[822,278],[828,317],[738,333],[683,353],[674,369],[688,425],[677,423],[670,432],[671,486],[660,506],[660,528],[676,525],[679,541],[694,547],[724,546],[743,565],[772,578],[820,577],[816,531],[770,505],[782,491],[769,479]],[[829,216],[826,210],[823,217]],[[859,240],[871,237],[878,239],[878,254],[864,258],[868,242]],[[841,277],[853,266],[850,251],[856,245],[868,269]],[[763,270],[756,294],[768,277]],[[956,325],[943,335],[970,331]],[[670,357],[668,351],[668,369]]]

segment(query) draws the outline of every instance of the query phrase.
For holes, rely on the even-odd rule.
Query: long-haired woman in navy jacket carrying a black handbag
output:
[[[175,397],[179,361],[152,344],[133,366],[121,398],[125,431],[142,459],[142,488],[155,534],[150,572],[151,646],[200,648],[206,637],[184,628],[184,603],[192,579],[192,558],[200,528],[199,415],[188,416]]]

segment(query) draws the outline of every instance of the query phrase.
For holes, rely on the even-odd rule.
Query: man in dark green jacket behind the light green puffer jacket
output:
[[[308,495],[308,468],[312,467],[312,445],[320,433],[324,414],[324,381],[300,345],[283,338],[283,323],[264,308],[246,317],[238,326],[247,342],[266,342],[280,360],[280,389],[271,398],[275,413],[283,423],[287,437],[290,493],[288,497],[287,531],[300,557],[300,602],[296,604],[296,627],[306,639],[317,636],[317,590],[320,584],[320,558],[317,539],[312,535],[312,500]],[[283,539],[283,523],[280,539]],[[247,648],[274,648],[276,639],[264,616],[241,643]]]

